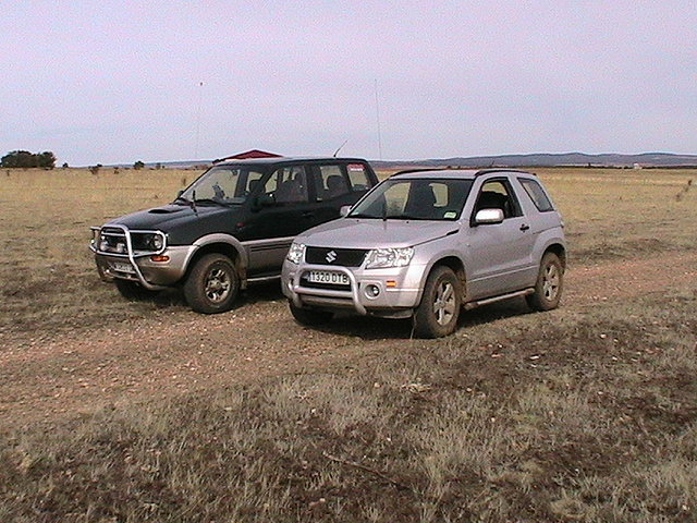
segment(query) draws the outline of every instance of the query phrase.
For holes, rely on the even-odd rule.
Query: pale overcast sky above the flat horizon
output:
[[[694,0],[0,8],[0,154],[697,153]]]

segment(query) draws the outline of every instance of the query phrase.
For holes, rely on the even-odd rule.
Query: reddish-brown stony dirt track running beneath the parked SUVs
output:
[[[611,306],[696,276],[695,253],[572,267],[560,312]],[[218,316],[176,312],[167,323],[143,319],[21,341],[0,337],[0,429],[109,404],[351,366],[411,335],[408,321],[355,317],[322,331],[305,329],[293,321],[276,288],[250,292],[261,299]],[[486,317],[486,309],[479,311],[467,315]]]

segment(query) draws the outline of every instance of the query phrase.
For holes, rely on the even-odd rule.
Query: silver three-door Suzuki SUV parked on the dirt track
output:
[[[403,171],[343,218],[299,234],[282,270],[303,325],[339,311],[412,317],[414,332],[453,332],[460,311],[525,296],[559,305],[562,217],[535,174],[502,169]]]

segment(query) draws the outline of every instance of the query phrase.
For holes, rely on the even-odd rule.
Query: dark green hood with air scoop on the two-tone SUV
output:
[[[109,223],[125,226],[131,230],[158,230],[168,234],[170,244],[189,244],[203,232],[232,232],[227,229],[235,223],[239,207],[198,205],[196,211],[185,205],[164,205],[121,216]],[[107,224],[109,224],[107,223]]]

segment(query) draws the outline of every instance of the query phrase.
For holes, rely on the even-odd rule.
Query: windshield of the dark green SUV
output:
[[[264,172],[249,166],[212,167],[192,183],[175,203],[243,204],[262,177]]]

